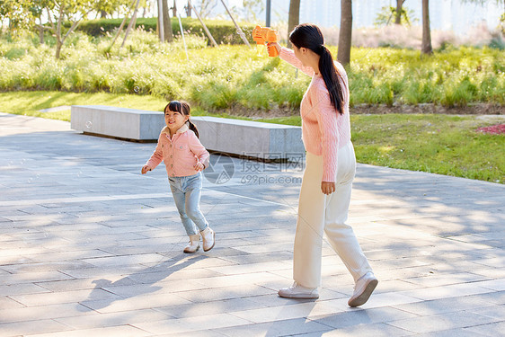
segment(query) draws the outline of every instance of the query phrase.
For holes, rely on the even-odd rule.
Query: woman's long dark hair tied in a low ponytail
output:
[[[324,46],[323,33],[315,24],[302,23],[289,34],[289,40],[297,48],[311,49],[319,55],[319,71],[330,93],[333,107],[343,114],[344,89],[339,79],[341,75],[333,63],[332,53]]]

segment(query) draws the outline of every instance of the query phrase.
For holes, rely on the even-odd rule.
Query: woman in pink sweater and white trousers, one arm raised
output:
[[[356,282],[349,306],[361,306],[377,287],[368,260],[352,228],[345,224],[356,157],[350,141],[349,85],[340,63],[324,46],[314,24],[300,24],[290,33],[293,50],[276,48],[280,58],[312,76],[300,104],[306,170],[299,196],[293,279],[280,297],[318,298],[321,284],[323,232]]]

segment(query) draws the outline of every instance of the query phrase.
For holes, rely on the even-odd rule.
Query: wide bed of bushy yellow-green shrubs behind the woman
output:
[[[155,34],[136,30],[124,48],[120,43],[110,48],[111,36],[79,32],[55,60],[54,47],[38,40],[2,39],[0,89],[152,94],[184,98],[208,110],[296,111],[310,83],[288,63],[258,57],[253,48],[207,48],[206,40],[194,35],[186,44],[190,62],[181,39],[159,43]],[[336,54],[336,48],[330,50]],[[419,50],[353,48],[350,104],[503,104],[504,58],[487,47],[445,49],[422,59]]]

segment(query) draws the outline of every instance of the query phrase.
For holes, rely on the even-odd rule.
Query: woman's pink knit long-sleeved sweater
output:
[[[302,140],[307,152],[323,155],[323,182],[335,182],[338,150],[350,142],[349,85],[345,69],[335,61],[344,91],[344,113],[341,115],[332,106],[322,75],[315,75],[312,67],[304,67],[291,49],[282,48],[280,58],[312,76],[300,104]]]

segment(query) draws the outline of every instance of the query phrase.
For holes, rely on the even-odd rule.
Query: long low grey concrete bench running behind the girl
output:
[[[260,159],[298,161],[305,155],[300,127],[193,116],[199,139],[209,151]],[[73,105],[70,126],[87,134],[136,141],[156,140],[164,127],[164,113],[101,105]]]

